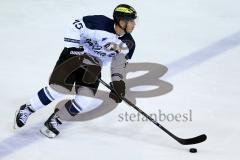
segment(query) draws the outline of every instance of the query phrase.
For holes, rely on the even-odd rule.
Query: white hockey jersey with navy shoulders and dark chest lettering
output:
[[[135,41],[131,34],[118,36],[114,21],[103,15],[85,16],[76,19],[68,27],[64,37],[65,47],[84,47],[84,52],[99,58],[103,63],[111,62],[116,54],[131,59]]]

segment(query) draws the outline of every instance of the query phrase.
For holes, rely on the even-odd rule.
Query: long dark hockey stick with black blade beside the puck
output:
[[[83,69],[87,69],[85,66],[81,67]],[[89,72],[89,71],[88,71]],[[94,76],[92,74],[92,76]],[[109,90],[113,91],[119,98],[121,98],[124,102],[126,102],[128,105],[130,105],[131,107],[133,107],[135,110],[137,110],[138,112],[140,112],[143,116],[145,116],[147,119],[149,119],[151,122],[153,122],[156,126],[158,126],[160,129],[162,129],[165,133],[167,133],[169,136],[171,136],[173,139],[175,139],[176,141],[178,141],[180,144],[182,145],[192,145],[192,144],[197,144],[197,143],[201,143],[204,142],[207,139],[207,135],[206,134],[201,134],[199,136],[193,137],[193,138],[187,138],[187,139],[183,139],[183,138],[179,138],[176,135],[174,135],[173,133],[171,133],[169,130],[167,130],[165,127],[163,127],[160,123],[158,123],[157,121],[155,121],[152,117],[150,117],[148,114],[146,114],[144,111],[142,111],[140,108],[138,108],[135,104],[133,104],[131,101],[129,101],[127,98],[122,97],[120,95],[117,94],[116,91],[114,91],[114,89],[112,88],[112,86],[110,86],[109,84],[107,84],[106,82],[104,82],[101,78],[98,78],[98,81],[100,83],[102,83],[105,87],[107,87]]]

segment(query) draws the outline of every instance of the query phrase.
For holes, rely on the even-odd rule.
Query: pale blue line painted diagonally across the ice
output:
[[[199,51],[189,54],[189,56],[187,56],[187,57],[183,57],[173,63],[168,64],[167,67],[169,68],[169,71],[163,77],[163,79],[167,79],[168,77],[174,76],[185,70],[188,70],[191,67],[201,64],[204,61],[207,61],[215,56],[223,54],[224,52],[226,52],[238,45],[240,45],[240,32],[232,34],[222,40],[219,40],[219,41],[199,50]],[[129,99],[131,99],[131,101],[134,100],[134,98],[131,98],[131,97],[129,97]],[[84,116],[86,116],[86,117],[82,118],[81,120],[90,119],[91,118],[90,115],[94,115],[94,114],[90,114],[90,113],[88,115],[83,114],[83,117]],[[37,141],[41,140],[42,138],[46,139],[39,133],[39,128],[43,123],[44,123],[44,121],[36,124],[33,127],[26,129],[26,130],[17,132],[16,134],[14,134],[6,139],[1,140],[0,141],[0,159],[18,151],[19,149],[27,147],[27,146],[31,145],[32,143],[36,143]],[[64,127],[64,129],[65,129],[65,127]],[[106,131],[106,132],[108,132],[108,131]],[[166,144],[166,143],[164,143],[164,144]]]

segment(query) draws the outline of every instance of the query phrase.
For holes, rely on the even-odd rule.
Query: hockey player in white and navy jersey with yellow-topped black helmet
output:
[[[87,90],[93,96],[96,94],[102,66],[107,63],[111,63],[112,87],[118,95],[124,96],[125,69],[135,50],[135,41],[130,33],[136,25],[136,18],[137,13],[133,7],[120,4],[114,9],[113,19],[104,15],[90,15],[73,21],[67,28],[64,49],[53,70],[53,73],[60,70],[64,75],[68,72],[66,81],[62,82],[59,78],[61,76],[52,73],[49,85],[39,90],[16,112],[15,128],[23,127],[35,111],[65,96],[65,93],[52,87],[56,84],[69,91],[75,89],[77,93],[74,99],[65,104],[69,116],[86,112],[89,108],[84,104],[85,99],[81,91]],[[68,64],[64,68],[64,63],[76,56],[79,57],[79,66],[83,67],[73,71]],[[110,92],[109,97],[116,103],[121,102],[114,92]],[[58,126],[62,124],[62,120],[57,112],[55,109],[40,130],[49,138],[59,134]]]

